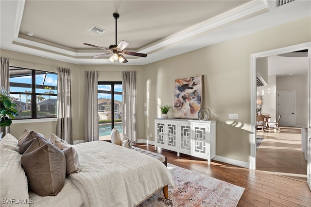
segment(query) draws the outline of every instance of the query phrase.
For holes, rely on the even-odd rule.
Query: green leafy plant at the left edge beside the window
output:
[[[15,119],[15,116],[18,116],[16,104],[12,103],[10,96],[5,92],[4,88],[1,87],[0,93],[0,132],[4,134],[9,133],[7,128],[12,124],[12,120]],[[2,135],[0,136],[0,138]]]

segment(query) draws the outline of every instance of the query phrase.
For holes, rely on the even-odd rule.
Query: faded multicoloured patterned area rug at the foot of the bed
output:
[[[167,166],[175,184],[174,189],[169,186],[169,198],[160,190],[138,207],[236,207],[245,190],[207,174]]]

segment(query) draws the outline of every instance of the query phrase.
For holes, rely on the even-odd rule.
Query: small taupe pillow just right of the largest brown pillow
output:
[[[63,150],[66,157],[66,173],[79,173],[81,170],[78,151],[73,147],[69,147]]]

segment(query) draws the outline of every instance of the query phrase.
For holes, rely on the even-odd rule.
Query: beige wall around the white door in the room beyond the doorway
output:
[[[308,75],[291,75],[276,78],[276,92],[295,91],[295,120],[294,126],[307,127],[308,125]]]

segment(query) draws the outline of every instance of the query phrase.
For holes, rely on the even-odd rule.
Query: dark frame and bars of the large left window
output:
[[[40,71],[40,72],[45,72],[45,73],[50,73],[50,74],[54,74],[57,75],[57,79],[58,79],[58,73],[57,72],[51,72],[51,71],[45,71],[45,70],[39,70],[39,69],[29,69],[29,68],[23,68],[23,67],[16,67],[16,66],[11,66],[12,68],[15,69],[28,69],[31,70],[31,84],[25,84],[25,83],[16,83],[16,82],[11,82],[10,81],[10,94],[17,94],[17,95],[31,95],[31,118],[16,118],[17,120],[34,120],[34,119],[57,119],[57,111],[58,111],[58,106],[57,106],[57,101],[56,101],[56,116],[53,117],[37,117],[37,96],[41,95],[41,96],[55,96],[56,100],[57,100],[57,93],[56,94],[47,94],[47,93],[36,93],[36,89],[46,89],[44,87],[48,86],[48,85],[37,85],[35,84],[35,78],[36,78],[36,71]],[[28,87],[31,88],[31,92],[14,92],[11,91],[11,86],[12,87]],[[49,86],[49,89],[51,90],[56,90],[57,91],[58,85],[57,86]],[[26,100],[27,102],[27,100]],[[33,104],[35,103],[35,104]]]

